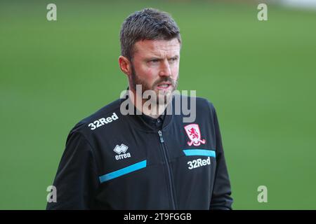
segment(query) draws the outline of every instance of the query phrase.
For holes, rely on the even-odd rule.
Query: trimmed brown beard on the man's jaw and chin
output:
[[[171,90],[167,90],[167,91],[156,90],[156,87],[162,82],[171,83]],[[172,93],[174,90],[176,90],[178,86],[178,78],[177,80],[174,80],[170,76],[164,76],[164,77],[158,78],[157,80],[154,81],[152,85],[150,85],[150,83],[147,83],[146,80],[139,78],[139,76],[136,74],[135,68],[132,63],[131,64],[131,83],[132,83],[131,87],[133,87],[133,90],[135,91],[136,91],[136,85],[141,85],[142,96],[140,97],[142,97],[142,99],[143,99],[143,94],[145,91],[153,91],[156,97],[154,97],[154,99],[150,97],[150,101],[154,102],[155,104],[169,104],[169,102],[172,99]]]

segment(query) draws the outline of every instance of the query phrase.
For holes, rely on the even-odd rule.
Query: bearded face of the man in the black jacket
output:
[[[131,86],[142,85],[156,93],[157,104],[169,102],[178,83],[180,43],[177,38],[165,40],[144,40],[134,45]]]

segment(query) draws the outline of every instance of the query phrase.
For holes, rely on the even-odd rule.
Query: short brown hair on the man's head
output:
[[[180,29],[171,15],[154,8],[144,8],[129,15],[121,25],[121,55],[131,60],[137,41],[172,38],[181,43]]]

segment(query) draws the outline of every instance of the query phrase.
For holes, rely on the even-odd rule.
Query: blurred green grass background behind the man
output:
[[[316,209],[316,11],[257,5],[1,1],[0,209],[45,209],[68,132],[127,86],[119,29],[145,7],[180,27],[179,89],[216,106],[233,208]]]

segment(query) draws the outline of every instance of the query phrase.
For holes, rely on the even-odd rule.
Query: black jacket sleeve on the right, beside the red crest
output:
[[[226,167],[223,144],[220,137],[220,128],[218,125],[218,118],[213,105],[211,105],[211,111],[213,114],[213,123],[216,134],[216,173],[210,209],[228,210],[232,209],[233,202],[232,197],[230,196],[230,178],[228,176],[228,169]]]

